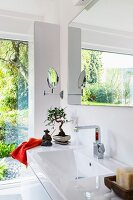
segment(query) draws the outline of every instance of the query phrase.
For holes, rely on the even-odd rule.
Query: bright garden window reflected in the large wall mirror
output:
[[[133,106],[133,56],[82,49],[82,105]]]

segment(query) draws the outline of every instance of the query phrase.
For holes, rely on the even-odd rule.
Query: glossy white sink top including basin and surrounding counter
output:
[[[92,175],[90,177],[87,177],[88,175],[82,177],[82,175],[80,177],[80,174],[77,174],[79,172],[73,159],[77,155],[82,158],[78,162],[79,165],[83,165],[83,174],[88,174],[86,167],[88,167],[88,171],[91,167],[94,167],[92,169],[95,171],[95,167],[98,166],[97,169],[105,170],[106,175],[103,175],[103,171],[100,172],[99,170],[100,175]],[[116,168],[125,166],[118,161],[111,158],[94,159],[87,152],[87,148],[83,146],[62,146],[58,144],[53,144],[51,147],[40,146],[30,149],[27,152],[27,156],[29,164],[32,160],[38,165],[50,184],[60,194],[62,200],[120,200],[104,185],[104,176],[113,175]],[[86,162],[85,165],[83,163],[84,160]],[[86,166],[90,163],[91,167]],[[79,179],[74,177],[79,177]]]

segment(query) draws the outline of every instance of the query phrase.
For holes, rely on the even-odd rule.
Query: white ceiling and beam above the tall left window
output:
[[[29,39],[34,21],[58,23],[59,0],[0,0],[0,37]]]

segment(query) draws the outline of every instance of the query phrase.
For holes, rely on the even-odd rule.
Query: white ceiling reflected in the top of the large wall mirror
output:
[[[99,0],[73,22],[133,32],[133,0]]]

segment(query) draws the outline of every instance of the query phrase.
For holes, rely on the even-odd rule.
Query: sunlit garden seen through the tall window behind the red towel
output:
[[[28,43],[0,40],[0,180],[16,178],[10,157],[28,135]]]

